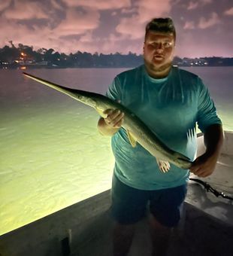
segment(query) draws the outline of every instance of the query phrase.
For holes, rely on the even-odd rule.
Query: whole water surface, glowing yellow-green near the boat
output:
[[[233,67],[186,68],[203,78],[233,130]],[[56,84],[104,93],[124,69],[33,69]],[[110,188],[110,138],[95,110],[0,69],[0,235]]]

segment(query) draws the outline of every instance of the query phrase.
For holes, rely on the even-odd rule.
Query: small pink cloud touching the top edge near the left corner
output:
[[[4,16],[13,20],[47,19],[46,10],[41,8],[39,2],[15,0],[14,7],[5,11]]]

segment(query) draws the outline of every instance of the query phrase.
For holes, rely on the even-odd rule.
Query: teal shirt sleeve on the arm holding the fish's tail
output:
[[[199,86],[199,96],[198,96],[198,128],[202,133],[207,130],[207,127],[212,124],[222,124],[222,121],[219,119],[216,114],[216,108],[213,102],[213,99],[210,96],[207,87],[204,86],[200,78],[198,78]]]

